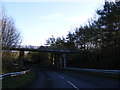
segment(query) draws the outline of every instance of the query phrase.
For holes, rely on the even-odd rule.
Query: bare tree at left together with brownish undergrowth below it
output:
[[[1,8],[1,18],[0,18],[0,55],[2,73],[18,71],[19,68],[14,68],[14,64],[17,62],[19,53],[11,52],[8,49],[10,47],[15,47],[21,43],[21,34],[15,26],[14,20],[9,17],[5,9]],[[8,50],[8,51],[7,51]]]

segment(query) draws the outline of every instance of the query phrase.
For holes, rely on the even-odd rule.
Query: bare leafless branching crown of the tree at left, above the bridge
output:
[[[21,43],[21,35],[15,27],[12,18],[8,17],[5,10],[2,10],[2,48],[8,49]]]

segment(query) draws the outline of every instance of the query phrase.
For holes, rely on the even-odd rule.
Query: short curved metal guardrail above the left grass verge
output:
[[[14,77],[14,76],[18,76],[18,75],[23,75],[23,74],[25,74],[25,73],[27,73],[29,71],[31,71],[31,70],[29,69],[29,70],[20,71],[20,72],[13,72],[13,73],[2,74],[2,75],[0,75],[0,79],[4,79],[7,76]]]

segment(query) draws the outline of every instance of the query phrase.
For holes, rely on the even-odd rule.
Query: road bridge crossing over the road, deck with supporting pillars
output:
[[[17,47],[11,47],[9,50],[12,51],[19,51],[19,59],[18,62],[20,65],[23,65],[24,62],[24,52],[25,51],[30,51],[30,52],[50,52],[53,53],[53,64],[55,66],[60,67],[60,68],[66,68],[67,64],[67,55],[68,53],[80,53],[80,50],[62,50],[62,49],[52,49],[50,47],[40,47],[40,46],[17,46]],[[55,59],[56,55],[59,55],[59,59]],[[61,59],[63,58],[63,60]]]

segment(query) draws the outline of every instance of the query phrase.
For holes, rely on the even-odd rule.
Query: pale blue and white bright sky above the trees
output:
[[[95,16],[104,0],[38,1],[9,0],[2,2],[22,35],[22,45],[41,46],[52,35],[66,37],[69,31]]]

